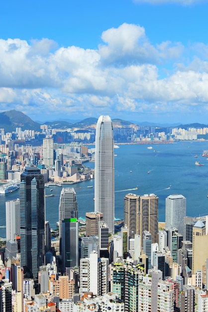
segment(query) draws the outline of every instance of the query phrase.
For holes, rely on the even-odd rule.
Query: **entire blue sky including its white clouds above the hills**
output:
[[[0,112],[208,124],[208,1],[0,2]]]

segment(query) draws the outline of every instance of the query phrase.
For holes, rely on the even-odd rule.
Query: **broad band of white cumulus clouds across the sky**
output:
[[[127,23],[105,30],[102,40],[98,49],[83,49],[58,47],[47,38],[0,39],[0,110],[46,118],[63,112],[171,114],[207,105],[204,43],[153,45],[144,27]]]

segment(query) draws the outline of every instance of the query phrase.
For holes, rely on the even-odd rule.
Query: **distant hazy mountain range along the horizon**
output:
[[[53,121],[53,122],[44,122],[44,123],[38,123],[34,122],[31,118],[29,118],[27,115],[23,114],[22,112],[11,110],[8,112],[0,113],[0,128],[4,129],[5,132],[12,132],[15,131],[16,128],[21,128],[22,131],[24,130],[34,130],[34,131],[40,131],[41,124],[47,125],[48,127],[52,129],[68,129],[68,128],[81,128],[81,129],[92,129],[96,128],[98,119],[97,118],[86,118],[80,122],[77,123],[71,123],[68,121]],[[112,124],[114,128],[132,128],[135,127],[135,125],[143,126],[143,127],[158,127],[158,128],[169,128],[169,127],[178,127],[178,128],[204,128],[208,127],[208,125],[204,124],[187,124],[187,125],[179,125],[179,124],[156,124],[156,123],[148,123],[148,122],[141,122],[138,123],[136,121],[124,121],[121,119],[113,119]]]

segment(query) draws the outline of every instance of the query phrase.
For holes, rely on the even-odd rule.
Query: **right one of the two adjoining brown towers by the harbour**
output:
[[[143,248],[143,232],[152,235],[152,243],[158,242],[158,197],[155,194],[140,196],[139,235]]]

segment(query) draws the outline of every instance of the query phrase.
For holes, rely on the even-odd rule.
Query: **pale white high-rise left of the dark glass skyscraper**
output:
[[[20,235],[19,199],[6,201],[6,240]]]

